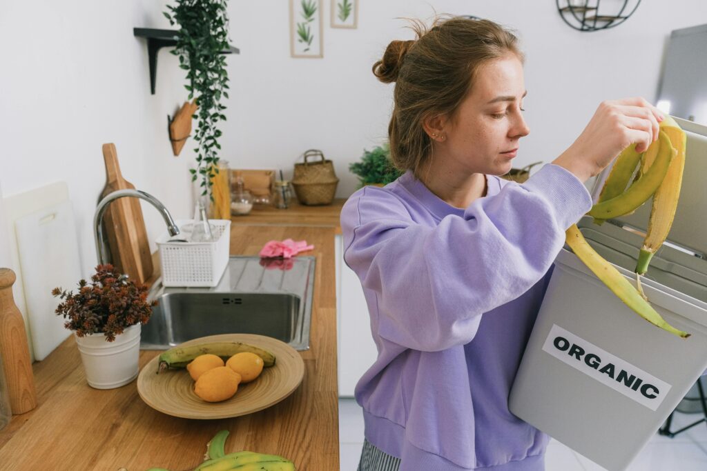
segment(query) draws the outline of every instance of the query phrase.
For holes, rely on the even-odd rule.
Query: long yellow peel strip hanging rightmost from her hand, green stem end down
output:
[[[682,172],[685,168],[686,136],[680,126],[669,116],[660,123],[661,133],[665,133],[675,148],[676,155],[670,163],[667,174],[653,195],[653,206],[650,208],[648,231],[643,239],[641,253],[638,255],[636,273],[643,275],[648,270],[650,258],[653,257],[667,238],[672,220],[677,210],[677,202],[682,186]]]

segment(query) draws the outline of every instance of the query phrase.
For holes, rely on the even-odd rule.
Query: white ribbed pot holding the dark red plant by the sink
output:
[[[81,362],[86,371],[88,386],[96,389],[112,389],[124,386],[137,378],[140,357],[139,323],[107,342],[103,333],[78,337],[74,333]]]

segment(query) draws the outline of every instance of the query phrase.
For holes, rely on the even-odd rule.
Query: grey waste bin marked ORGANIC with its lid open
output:
[[[669,242],[641,281],[655,310],[691,336],[645,321],[562,249],[510,392],[513,414],[609,471],[626,469],[707,368],[707,128],[676,121],[688,139],[683,191]],[[650,200],[578,227],[635,283],[649,214]]]

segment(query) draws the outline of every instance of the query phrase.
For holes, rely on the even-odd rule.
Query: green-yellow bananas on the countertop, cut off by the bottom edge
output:
[[[206,445],[204,463],[194,471],[296,471],[294,463],[278,455],[265,455],[252,451],[237,451],[226,454],[228,430],[221,430]],[[148,471],[169,471],[152,467]]]

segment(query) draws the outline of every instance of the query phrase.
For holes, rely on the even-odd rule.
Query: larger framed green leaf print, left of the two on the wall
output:
[[[324,57],[322,0],[290,0],[290,55]]]

